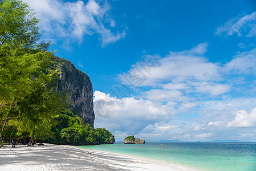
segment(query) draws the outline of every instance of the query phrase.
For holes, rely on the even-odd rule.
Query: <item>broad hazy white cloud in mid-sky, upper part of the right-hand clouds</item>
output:
[[[192,50],[185,50],[182,52],[170,52],[165,58],[159,59],[160,66],[150,68],[144,68],[141,63],[137,63],[127,73],[134,71],[134,68],[138,68],[141,72],[139,79],[145,79],[140,86],[157,86],[156,83],[168,82],[172,80],[172,83],[181,83],[188,80],[216,80],[220,79],[219,66],[215,63],[210,63],[206,58],[202,56],[206,52],[208,43],[201,43],[193,47]],[[142,61],[143,62],[143,61]],[[136,73],[137,74],[137,73]],[[125,75],[119,75],[123,82],[127,82]]]

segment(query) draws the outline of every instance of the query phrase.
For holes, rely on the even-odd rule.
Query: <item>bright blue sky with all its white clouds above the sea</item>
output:
[[[256,141],[255,1],[25,2],[50,50],[90,76],[94,103],[115,104],[111,117],[95,112],[95,127],[117,141]]]

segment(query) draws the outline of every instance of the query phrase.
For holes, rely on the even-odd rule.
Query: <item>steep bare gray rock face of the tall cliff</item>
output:
[[[57,67],[62,72],[57,91],[66,91],[71,94],[71,111],[83,118],[94,127],[94,104],[92,83],[88,75],[75,68],[69,60],[54,57]]]

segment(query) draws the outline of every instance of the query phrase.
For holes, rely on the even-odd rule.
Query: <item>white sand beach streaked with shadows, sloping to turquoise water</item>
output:
[[[68,145],[6,145],[0,170],[195,170],[147,158],[87,150]]]

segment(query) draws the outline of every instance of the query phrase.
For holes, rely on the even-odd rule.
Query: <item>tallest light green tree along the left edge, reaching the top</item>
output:
[[[42,66],[40,54],[25,49],[40,37],[38,22],[22,1],[0,2],[0,143],[7,122],[17,119],[17,101],[30,91],[31,73]]]

